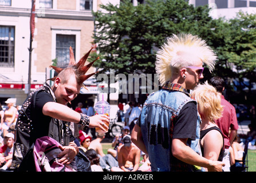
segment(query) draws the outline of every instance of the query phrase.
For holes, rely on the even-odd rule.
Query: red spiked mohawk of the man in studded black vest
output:
[[[70,58],[69,58],[69,65],[68,65],[68,67],[66,67],[65,69],[72,67],[72,68],[76,71],[76,75],[77,75],[78,81],[79,81],[78,83],[82,83],[82,82],[84,82],[86,79],[88,79],[89,77],[91,77],[92,75],[98,73],[98,71],[96,71],[96,72],[94,72],[94,73],[92,73],[92,74],[85,75],[85,73],[89,70],[89,68],[93,65],[93,63],[94,63],[97,59],[100,58],[100,57],[97,57],[96,59],[94,59],[93,62],[90,62],[90,63],[88,63],[88,65],[85,65],[85,66],[84,66],[84,64],[85,64],[85,62],[86,62],[86,60],[87,60],[87,58],[88,58],[88,56],[89,56],[89,54],[90,54],[90,51],[92,51],[93,48],[94,48],[94,47],[92,47],[92,48],[88,51],[88,53],[86,53],[86,54],[84,55],[84,57],[80,58],[80,60],[76,63],[76,61],[75,61],[75,59],[74,59],[73,49],[72,49],[71,46],[69,47],[69,57],[70,57]],[[62,70],[64,70],[63,68],[56,67],[56,66],[53,66],[53,65],[51,65],[50,67],[52,67],[58,74],[59,74]],[[54,81],[57,77],[58,77],[58,75],[57,75],[56,77],[50,78],[50,79],[48,79],[48,80]]]

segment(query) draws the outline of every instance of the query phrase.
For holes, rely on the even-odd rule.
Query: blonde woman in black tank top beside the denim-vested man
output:
[[[200,147],[203,157],[212,161],[222,161],[224,156],[224,138],[214,120],[222,116],[221,97],[215,87],[207,82],[195,87],[192,96],[198,102],[198,112],[202,119],[200,125]],[[207,169],[206,169],[207,170]]]

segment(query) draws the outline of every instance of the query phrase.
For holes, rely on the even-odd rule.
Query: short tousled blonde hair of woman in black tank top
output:
[[[223,106],[220,104],[221,96],[215,87],[208,84],[199,84],[192,92],[192,96],[198,102],[198,110],[204,118],[214,122],[222,117]]]

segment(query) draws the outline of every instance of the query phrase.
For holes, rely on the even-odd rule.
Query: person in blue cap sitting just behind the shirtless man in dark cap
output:
[[[117,134],[114,140],[112,141],[112,147],[114,149],[109,148],[108,154],[111,154],[113,157],[117,159],[117,149],[123,145],[123,137],[130,133],[129,126],[124,126],[123,132],[121,134]]]

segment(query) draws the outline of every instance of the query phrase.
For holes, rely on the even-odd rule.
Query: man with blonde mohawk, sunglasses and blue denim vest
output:
[[[202,157],[201,121],[187,91],[203,78],[203,64],[212,71],[216,59],[206,41],[192,34],[173,34],[157,51],[162,89],[148,96],[132,131],[132,142],[148,154],[152,171],[222,171],[222,162]]]

